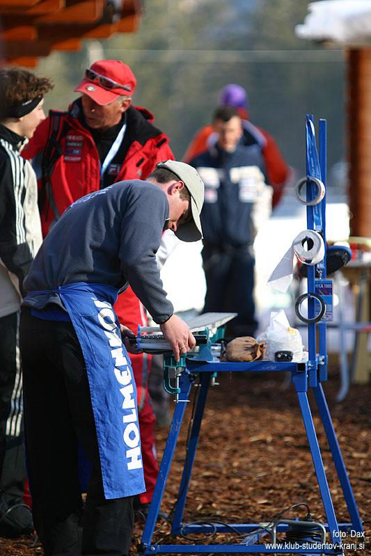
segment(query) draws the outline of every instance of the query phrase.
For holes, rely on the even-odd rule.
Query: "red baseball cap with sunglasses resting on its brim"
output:
[[[136,79],[128,65],[120,60],[100,60],[90,65],[74,90],[104,105],[120,95],[132,95],[135,86]]]

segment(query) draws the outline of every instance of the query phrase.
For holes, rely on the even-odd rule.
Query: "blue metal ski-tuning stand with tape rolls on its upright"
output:
[[[307,187],[306,194],[307,200],[313,199],[315,196],[315,186],[310,181],[310,177],[317,177],[325,184],[326,182],[326,120],[319,120],[319,159],[315,143],[315,128],[313,125],[313,116],[306,117],[306,175]],[[307,205],[307,227],[311,230],[316,230],[322,234],[324,244],[326,245],[326,196],[317,205]],[[326,256],[324,260],[315,266],[308,266],[308,293],[315,292],[315,268],[319,271],[322,278],[326,278]],[[315,315],[314,299],[308,299],[308,317],[309,319]],[[187,368],[185,372],[180,375],[178,394],[178,403],[175,406],[173,415],[173,422],[171,423],[168,440],[164,450],[164,456],[161,461],[159,470],[159,477],[155,487],[152,504],[148,514],[147,521],[143,531],[142,543],[140,550],[145,555],[153,555],[157,553],[260,553],[260,554],[342,554],[342,547],[340,546],[341,533],[340,532],[363,532],[361,518],[358,514],[356,502],[352,492],[352,487],[349,483],[347,470],[342,459],[338,440],[336,438],[335,430],[329,413],[329,408],[324,397],[322,389],[322,382],[327,379],[327,355],[326,355],[326,322],[322,321],[318,324],[319,328],[319,346],[317,354],[316,349],[316,324],[308,324],[308,362],[306,363],[274,363],[266,361],[256,361],[253,363],[221,363],[218,360],[192,360],[187,359]],[[210,379],[216,372],[282,372],[288,371],[291,373],[292,383],[297,391],[299,406],[303,415],[303,423],[308,437],[310,452],[317,475],[319,491],[322,496],[324,511],[326,514],[327,523],[322,524],[326,534],[331,537],[331,541],[324,541],[320,546],[313,544],[313,548],[308,548],[308,543],[302,542],[299,548],[292,546],[282,548],[274,546],[270,548],[263,543],[259,542],[260,534],[267,534],[267,531],[255,533],[261,525],[259,523],[230,523],[223,525],[221,523],[213,524],[184,524],[182,523],[182,516],[184,506],[187,498],[187,491],[189,481],[191,479],[191,471],[194,464],[194,457],[198,443],[198,436],[200,434],[200,425],[203,418],[205,408],[207,390],[210,385]],[[209,534],[212,532],[231,532],[231,527],[239,533],[246,535],[249,533],[251,537],[247,537],[243,543],[236,544],[159,544],[152,543],[152,537],[155,531],[157,514],[160,510],[161,500],[164,495],[166,480],[171,468],[171,462],[177,443],[177,438],[180,433],[186,402],[189,398],[191,386],[194,383],[195,377],[198,376],[200,381],[200,391],[198,392],[198,400],[196,404],[194,422],[191,428],[189,445],[187,448],[187,457],[184,462],[184,470],[182,479],[180,481],[177,502],[173,512],[173,522],[171,527],[171,534]],[[321,451],[317,440],[317,434],[313,423],[312,414],[310,412],[310,405],[308,402],[308,388],[313,390],[315,402],[322,420],[324,431],[326,432],[327,441],[333,462],[336,467],[336,472],[340,480],[342,492],[344,494],[347,509],[349,511],[350,523],[338,523],[335,511],[333,509],[333,502],[331,500],[331,493],[329,484],[326,479],[326,472],[322,461]],[[182,403],[183,402],[183,403]],[[322,528],[323,528],[322,527]],[[287,531],[287,524],[279,523],[276,527],[277,532]],[[344,533],[343,533],[344,534]]]

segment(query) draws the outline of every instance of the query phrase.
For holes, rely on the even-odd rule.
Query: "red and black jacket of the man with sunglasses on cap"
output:
[[[101,184],[100,156],[93,136],[83,125],[81,110],[81,100],[78,99],[72,103],[68,112],[58,112],[54,123],[55,112],[52,111],[40,123],[22,152],[25,158],[35,159],[36,167],[45,168],[45,165],[49,165],[47,182],[42,183],[42,172],[39,179],[44,236],[53,221],[72,202],[106,185]],[[126,117],[127,129],[122,146],[106,170],[113,176],[111,183],[145,179],[157,162],[174,159],[168,137],[152,125],[154,118],[149,111],[130,106]],[[56,121],[58,129],[54,130]],[[55,143],[52,150],[51,142]]]

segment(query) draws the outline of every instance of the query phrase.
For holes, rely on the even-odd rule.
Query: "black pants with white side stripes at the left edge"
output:
[[[26,479],[18,321],[17,312],[0,318],[0,500],[4,507],[22,502]]]

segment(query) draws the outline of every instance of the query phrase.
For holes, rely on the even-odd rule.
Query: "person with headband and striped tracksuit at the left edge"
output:
[[[0,70],[0,534],[9,537],[33,531],[31,512],[23,505],[18,324],[23,280],[42,242],[36,176],[20,152],[45,120],[43,97],[51,88],[49,79],[29,71]]]

